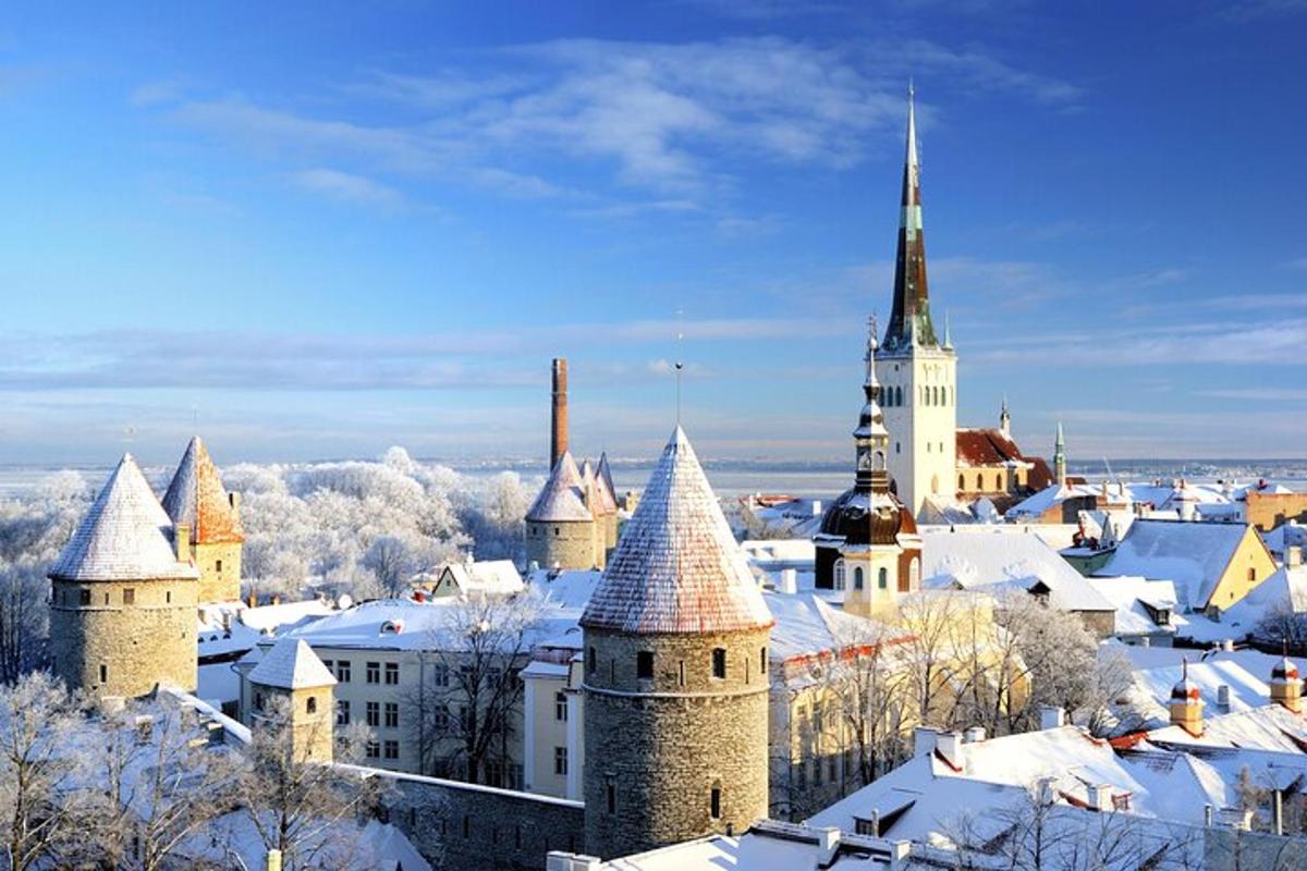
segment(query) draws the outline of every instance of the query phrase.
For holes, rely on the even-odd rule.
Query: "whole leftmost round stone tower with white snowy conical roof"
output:
[[[91,696],[196,686],[190,528],[175,529],[132,454],[50,568],[55,675]]]

